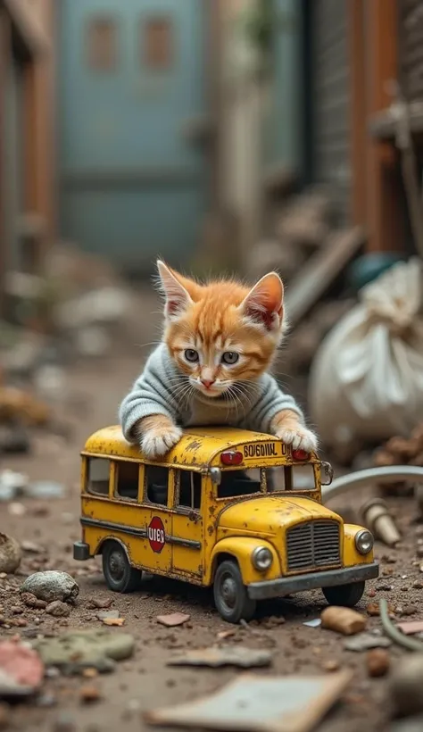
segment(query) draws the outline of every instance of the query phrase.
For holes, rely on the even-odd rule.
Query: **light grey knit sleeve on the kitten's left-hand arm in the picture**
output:
[[[178,404],[166,386],[165,374],[154,353],[145,363],[145,370],[137,378],[129,395],[120,404],[119,420],[125,439],[136,442],[133,428],[139,420],[153,414],[163,414],[174,422],[178,420]]]

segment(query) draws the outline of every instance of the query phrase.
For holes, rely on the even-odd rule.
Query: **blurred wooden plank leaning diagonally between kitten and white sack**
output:
[[[296,326],[324,295],[346,264],[359,252],[364,240],[360,227],[335,231],[328,237],[327,244],[304,264],[286,293],[286,312],[292,326]]]

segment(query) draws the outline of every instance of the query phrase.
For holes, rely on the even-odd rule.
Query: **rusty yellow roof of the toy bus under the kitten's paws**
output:
[[[210,464],[217,453],[248,442],[274,442],[275,437],[247,429],[227,427],[198,427],[184,430],[179,440],[163,460],[163,464],[191,465],[202,468]],[[99,429],[87,439],[84,453],[142,460],[137,445],[129,445],[119,426]]]

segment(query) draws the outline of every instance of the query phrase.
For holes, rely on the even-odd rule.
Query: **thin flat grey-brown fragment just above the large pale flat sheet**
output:
[[[181,653],[170,661],[168,666],[240,666],[250,669],[254,666],[269,666],[272,653],[269,651],[254,650],[244,646],[221,645],[219,648],[199,648],[195,651]]]

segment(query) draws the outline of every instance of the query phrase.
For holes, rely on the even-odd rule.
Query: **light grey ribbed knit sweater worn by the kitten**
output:
[[[137,440],[133,431],[137,421],[153,414],[164,414],[181,427],[227,424],[260,432],[269,432],[271,420],[284,409],[297,412],[303,420],[294,398],[284,394],[270,374],[264,374],[254,384],[243,385],[242,390],[236,389],[235,401],[225,395],[207,397],[198,391],[187,400],[178,377],[181,374],[167,346],[159,345],[120,404],[120,424],[129,442]]]

